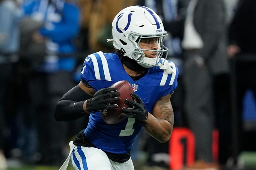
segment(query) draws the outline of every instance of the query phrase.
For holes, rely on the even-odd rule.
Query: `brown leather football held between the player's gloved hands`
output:
[[[131,96],[131,92],[134,92],[132,89],[132,85],[125,80],[118,81],[115,84],[111,85],[110,87],[117,88],[117,92],[120,92],[120,100],[112,102],[111,104],[117,104],[118,107],[114,109],[103,109],[100,111],[102,119],[107,124],[116,124],[124,120],[124,116],[122,116],[122,108],[123,107],[131,107],[128,105],[125,100],[130,99],[133,100]]]

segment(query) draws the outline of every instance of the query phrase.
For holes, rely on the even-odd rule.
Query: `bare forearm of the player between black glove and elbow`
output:
[[[167,142],[171,137],[173,121],[168,122],[167,120],[156,118],[149,113],[148,119],[141,122],[141,124],[150,136],[161,143]]]

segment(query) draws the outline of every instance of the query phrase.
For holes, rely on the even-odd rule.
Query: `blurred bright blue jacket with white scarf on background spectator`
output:
[[[52,73],[73,71],[76,52],[73,43],[79,28],[79,7],[73,0],[27,0],[22,5],[24,16],[42,26],[36,32],[44,38],[46,56],[37,71]],[[34,33],[35,34],[35,33]]]

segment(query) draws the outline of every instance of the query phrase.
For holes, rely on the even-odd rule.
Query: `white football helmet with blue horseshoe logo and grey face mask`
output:
[[[163,39],[167,35],[162,20],[152,9],[145,6],[130,6],[120,11],[112,22],[114,48],[123,55],[137,61],[143,67],[162,67],[168,48],[164,47]],[[158,38],[158,49],[148,50],[139,46],[143,38]],[[157,52],[156,58],[145,57],[143,50]],[[162,58],[165,52],[165,57]],[[162,59],[161,59],[162,58]],[[163,60],[164,59],[164,60]],[[164,68],[163,68],[164,69]]]

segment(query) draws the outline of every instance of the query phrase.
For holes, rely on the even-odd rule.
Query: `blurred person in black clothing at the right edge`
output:
[[[249,123],[244,121],[243,100],[245,93],[252,92],[252,96],[256,96],[256,1],[255,0],[239,0],[235,15],[229,26],[229,45],[227,48],[228,57],[234,61],[234,76],[236,85],[236,112],[237,129],[236,139],[238,140],[237,152],[256,151],[255,147],[255,119],[251,119]],[[243,108],[244,107],[244,108]],[[253,118],[252,109],[249,117]],[[235,153],[237,154],[237,153]],[[237,156],[237,155],[234,155]]]

